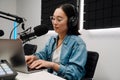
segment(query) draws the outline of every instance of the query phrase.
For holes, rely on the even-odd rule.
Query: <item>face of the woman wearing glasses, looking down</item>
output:
[[[58,34],[66,34],[68,30],[68,18],[61,8],[57,8],[52,16],[52,24],[55,32]]]

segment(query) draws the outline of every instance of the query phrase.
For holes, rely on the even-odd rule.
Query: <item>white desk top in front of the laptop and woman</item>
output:
[[[18,72],[16,80],[65,80],[61,77],[50,74],[46,71],[40,71],[30,74]]]

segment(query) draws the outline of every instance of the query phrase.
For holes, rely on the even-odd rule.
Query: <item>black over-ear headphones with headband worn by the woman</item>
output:
[[[74,5],[71,5],[71,6],[74,10],[75,16],[72,16],[72,17],[69,18],[68,24],[69,24],[69,26],[74,27],[78,24],[78,12],[77,12],[77,9],[75,8]]]

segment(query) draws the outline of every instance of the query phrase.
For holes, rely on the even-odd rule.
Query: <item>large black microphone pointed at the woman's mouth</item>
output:
[[[41,35],[44,35],[48,32],[48,27],[46,25],[38,25],[34,28],[34,32],[24,33],[20,35],[20,39],[23,41],[23,43],[32,40],[36,37],[39,37]]]

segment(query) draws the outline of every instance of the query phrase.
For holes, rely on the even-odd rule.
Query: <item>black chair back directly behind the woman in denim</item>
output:
[[[92,80],[98,62],[99,54],[95,51],[88,51],[87,54],[87,62],[85,65],[86,74],[83,80]]]

